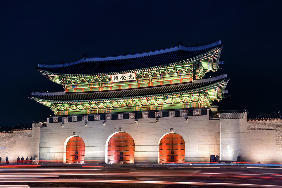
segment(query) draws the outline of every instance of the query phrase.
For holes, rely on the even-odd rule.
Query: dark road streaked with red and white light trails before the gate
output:
[[[282,188],[282,168],[188,165],[0,168],[0,188],[235,186]]]

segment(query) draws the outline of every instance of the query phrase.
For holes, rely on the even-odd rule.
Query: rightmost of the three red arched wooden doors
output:
[[[184,163],[185,141],[179,134],[170,133],[165,135],[159,143],[160,163]]]

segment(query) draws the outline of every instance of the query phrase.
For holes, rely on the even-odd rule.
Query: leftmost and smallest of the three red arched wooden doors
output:
[[[66,147],[66,162],[67,163],[84,163],[85,145],[82,138],[79,136],[71,137]]]

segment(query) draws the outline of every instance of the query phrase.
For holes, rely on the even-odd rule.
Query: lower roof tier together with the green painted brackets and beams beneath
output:
[[[138,89],[83,93],[32,93],[31,98],[50,107],[56,115],[201,108],[226,97],[227,75]]]

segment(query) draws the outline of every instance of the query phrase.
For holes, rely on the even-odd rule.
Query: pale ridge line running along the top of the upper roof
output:
[[[203,45],[203,46],[188,47],[188,46],[179,45],[179,46],[175,46],[175,47],[171,47],[171,48],[164,48],[164,49],[154,50],[154,51],[149,51],[149,52],[133,53],[133,54],[126,54],[126,55],[118,55],[118,56],[105,56],[105,57],[93,57],[93,58],[82,57],[82,58],[80,58],[76,61],[72,61],[72,62],[68,62],[68,63],[38,64],[38,67],[41,67],[41,68],[43,68],[43,67],[44,68],[67,67],[67,66],[79,64],[79,63],[82,63],[82,62],[108,61],[108,60],[138,58],[138,57],[167,53],[167,52],[172,52],[172,51],[177,51],[177,50],[185,50],[185,51],[202,50],[202,49],[216,47],[218,45],[221,45],[221,40],[218,40],[214,43]]]

